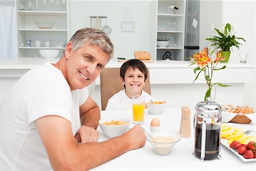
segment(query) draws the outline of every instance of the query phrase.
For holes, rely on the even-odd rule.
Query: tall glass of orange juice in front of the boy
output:
[[[144,123],[145,97],[141,95],[133,96],[133,123]]]

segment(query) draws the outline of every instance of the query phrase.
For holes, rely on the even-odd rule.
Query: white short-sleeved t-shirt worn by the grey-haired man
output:
[[[52,170],[35,121],[61,116],[71,122],[75,136],[81,127],[79,106],[88,96],[86,88],[71,92],[50,63],[24,74],[0,106],[0,170]]]

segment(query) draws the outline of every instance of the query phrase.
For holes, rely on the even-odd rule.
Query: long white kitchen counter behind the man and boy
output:
[[[58,59],[43,58],[2,58],[0,59],[0,104],[13,87],[14,83],[28,70],[44,65],[46,62],[57,62]],[[150,71],[151,95],[155,99],[166,100],[172,107],[181,105],[195,106],[203,100],[207,89],[204,74],[193,84],[195,74],[189,66],[189,61],[171,61],[145,63]],[[121,67],[122,63],[110,61],[106,67]],[[212,82],[224,83],[230,87],[218,87],[216,101],[233,105],[255,104],[255,65],[240,63],[219,63],[218,67],[226,65],[226,69],[214,71]],[[92,97],[101,106],[100,76],[95,84]],[[213,88],[214,91],[215,88]]]

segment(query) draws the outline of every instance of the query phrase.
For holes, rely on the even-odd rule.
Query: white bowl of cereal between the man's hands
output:
[[[101,119],[98,121],[98,124],[101,127],[102,132],[108,138],[112,138],[115,136],[122,135],[126,131],[129,130],[129,127],[131,125],[130,119],[127,118],[106,118],[106,119]]]

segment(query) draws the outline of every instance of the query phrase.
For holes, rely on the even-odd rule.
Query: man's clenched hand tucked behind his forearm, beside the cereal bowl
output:
[[[77,143],[97,142],[98,131],[89,126],[81,126],[76,133],[75,139]]]

